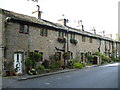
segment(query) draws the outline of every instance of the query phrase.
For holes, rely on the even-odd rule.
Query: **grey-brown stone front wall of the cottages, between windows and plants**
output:
[[[5,20],[6,16],[0,17]],[[4,26],[4,24],[1,24]],[[1,28],[2,26],[0,26]],[[15,52],[23,52],[26,53],[28,50],[34,51],[39,50],[39,52],[43,52],[43,59],[49,59],[49,56],[55,54],[57,51],[55,47],[62,48],[63,43],[58,42],[58,31],[48,29],[48,36],[40,36],[40,29],[42,27],[29,26],[29,34],[19,33],[20,24],[16,22],[8,22],[7,26],[3,31],[0,32],[0,37],[4,37],[0,40],[0,43],[4,43],[6,46],[6,57],[5,59],[7,64],[7,69],[13,67],[14,62],[14,53]],[[2,29],[1,29],[2,30]],[[5,32],[4,32],[5,30]],[[4,34],[1,34],[3,33]],[[3,36],[2,36],[3,35]],[[85,42],[82,42],[82,36],[76,34],[75,39],[78,40],[76,45],[70,43],[70,34],[68,35],[68,45],[69,51],[73,52],[73,58],[80,55],[80,53],[91,52],[95,53],[98,51],[100,46],[99,39],[92,39],[92,43],[89,42],[90,37],[86,37]],[[2,42],[2,40],[4,42]],[[109,44],[110,43],[110,44]],[[107,49],[110,49],[112,52],[112,43],[106,41]],[[105,52],[105,40],[101,40],[101,53]],[[0,51],[2,54],[2,50]],[[63,52],[61,52],[63,54]],[[24,56],[25,57],[25,56]],[[2,57],[1,57],[2,58]],[[61,56],[62,58],[62,56]],[[62,58],[63,61],[63,58]],[[12,62],[12,64],[10,64]],[[24,64],[24,62],[23,62]]]

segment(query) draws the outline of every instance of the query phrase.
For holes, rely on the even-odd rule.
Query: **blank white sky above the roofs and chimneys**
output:
[[[78,20],[82,20],[84,30],[93,27],[97,34],[105,30],[106,36],[112,34],[113,39],[118,33],[118,2],[119,0],[0,0],[0,8],[13,12],[31,14],[40,5],[42,19],[58,23],[59,19],[69,20],[68,26],[77,28]],[[64,14],[64,17],[62,16]],[[102,34],[100,34],[102,35]]]

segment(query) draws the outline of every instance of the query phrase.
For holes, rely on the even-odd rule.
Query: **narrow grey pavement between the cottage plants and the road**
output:
[[[90,67],[96,67],[99,65],[91,65],[91,66],[86,66],[83,68],[90,68]],[[33,79],[33,78],[38,78],[38,77],[44,77],[44,76],[49,76],[49,75],[55,75],[55,74],[59,74],[59,73],[65,73],[65,72],[70,72],[70,71],[75,71],[78,69],[64,69],[64,70],[60,70],[60,71],[56,71],[56,72],[50,72],[50,73],[45,73],[45,74],[39,74],[39,75],[21,75],[21,76],[9,76],[9,77],[3,77],[5,79],[16,79],[18,81],[23,81],[23,80],[28,80],[28,79]]]

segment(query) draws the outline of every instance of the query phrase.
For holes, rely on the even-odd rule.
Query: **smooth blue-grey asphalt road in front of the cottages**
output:
[[[3,88],[118,88],[118,63],[25,81],[3,80]]]

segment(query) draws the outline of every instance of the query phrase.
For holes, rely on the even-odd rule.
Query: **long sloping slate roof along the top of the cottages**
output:
[[[93,33],[87,32],[87,31],[81,31],[80,29],[72,28],[72,27],[69,27],[69,26],[63,26],[63,25],[53,23],[53,22],[50,22],[50,21],[47,21],[47,20],[37,19],[37,18],[32,17],[32,16],[18,14],[18,13],[8,11],[8,10],[4,10],[4,9],[1,9],[1,8],[0,8],[0,10],[2,10],[2,12],[6,16],[11,17],[13,19],[26,21],[26,22],[32,22],[32,23],[41,24],[41,25],[47,25],[47,26],[50,26],[50,27],[66,30],[66,31],[69,31],[69,32],[78,33],[78,34],[85,35],[85,36],[88,36],[88,37],[94,37],[94,38],[100,38],[100,39],[104,39],[104,40],[113,41],[111,38],[102,37],[100,35],[93,34]]]

